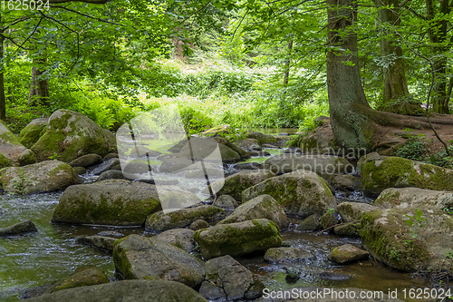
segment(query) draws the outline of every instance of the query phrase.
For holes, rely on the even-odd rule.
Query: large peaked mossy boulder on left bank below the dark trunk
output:
[[[31,148],[38,161],[45,161],[55,153],[58,160],[69,162],[85,154],[103,157],[116,151],[115,136],[79,112],[53,112],[44,129]]]

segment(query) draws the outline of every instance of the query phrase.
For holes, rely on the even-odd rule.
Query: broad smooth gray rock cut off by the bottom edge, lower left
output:
[[[125,280],[91,287],[61,290],[28,299],[30,302],[206,302],[198,292],[179,282],[163,280]]]

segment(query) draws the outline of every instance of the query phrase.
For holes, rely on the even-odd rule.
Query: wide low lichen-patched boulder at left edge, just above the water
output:
[[[13,194],[64,190],[81,182],[72,167],[62,161],[42,161],[24,167],[5,168],[0,176],[3,190]]]

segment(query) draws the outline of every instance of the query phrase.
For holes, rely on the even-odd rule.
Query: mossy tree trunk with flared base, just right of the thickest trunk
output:
[[[395,43],[394,31],[400,26],[400,0],[374,0],[381,8],[378,11],[381,22],[381,57],[385,61],[383,67],[383,106],[381,110],[400,114],[423,113],[419,104],[410,102],[408,83],[404,71],[404,60],[399,44]]]

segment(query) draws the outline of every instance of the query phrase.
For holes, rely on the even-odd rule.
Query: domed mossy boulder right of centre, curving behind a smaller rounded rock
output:
[[[287,215],[308,217],[336,209],[332,191],[314,172],[296,170],[264,180],[242,194],[243,203],[263,194],[272,196]]]

